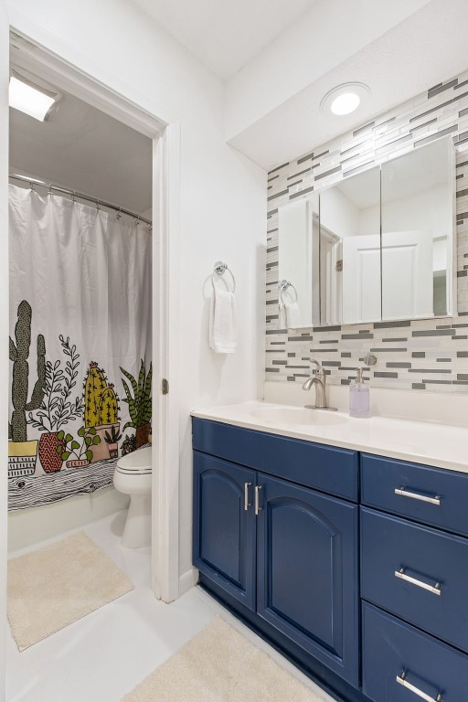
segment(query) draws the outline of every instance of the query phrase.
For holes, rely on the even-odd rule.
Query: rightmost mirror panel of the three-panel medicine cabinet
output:
[[[382,319],[453,312],[453,147],[440,139],[382,165]]]

